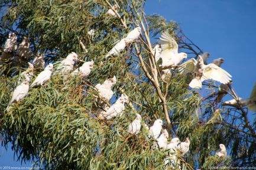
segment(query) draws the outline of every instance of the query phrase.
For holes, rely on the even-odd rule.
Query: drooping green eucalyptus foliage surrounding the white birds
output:
[[[109,5],[115,3],[121,7],[116,18],[106,14]],[[155,44],[153,37],[161,31],[168,30],[180,49],[192,57],[202,51],[175,22],[167,22],[157,14],[146,17],[145,3],[142,0],[1,1],[1,46],[8,33],[15,32],[18,42],[23,36],[30,39],[29,61],[41,52],[47,63],[56,66],[72,51],[79,55],[76,68],[82,65],[82,60],[95,61],[87,80],[54,75],[45,85],[31,88],[9,112],[5,109],[11,92],[20,82],[20,72],[26,68],[11,60],[2,65],[2,145],[11,145],[18,159],[33,159],[42,169],[165,169],[168,152],[151,148],[154,140],[147,138],[147,129],[143,127],[138,135],[127,132],[129,123],[139,113],[142,124],[152,125],[155,119],[163,119],[170,137],[179,136],[184,141],[189,136],[190,151],[179,158],[183,169],[255,165],[255,120],[248,121],[246,109],[222,108],[215,112],[221,106],[215,102],[218,87],[213,82],[207,82],[208,89],[200,92],[189,89],[191,78],[180,76],[176,70],[166,80],[159,74],[154,77],[150,49]],[[114,44],[137,26],[145,29],[141,38],[119,56],[104,59]],[[90,29],[95,29],[95,35],[88,35]],[[150,44],[147,38],[153,42]],[[129,96],[129,104],[123,116],[104,121],[96,117],[103,108],[96,102],[98,94],[93,87],[114,75],[118,81],[110,103],[124,93]],[[158,88],[164,100],[160,99]],[[230,156],[213,156],[219,144],[226,145]]]

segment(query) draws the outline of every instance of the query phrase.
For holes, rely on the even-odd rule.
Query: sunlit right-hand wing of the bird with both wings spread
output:
[[[220,68],[215,64],[208,64],[203,69],[203,76],[201,81],[205,81],[206,79],[213,79],[215,81],[221,82],[222,84],[228,84],[231,81],[231,75],[226,72],[224,69]]]

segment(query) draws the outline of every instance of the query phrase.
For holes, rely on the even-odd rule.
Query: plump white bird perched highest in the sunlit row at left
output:
[[[71,52],[69,55],[67,55],[66,59],[63,59],[59,66],[57,66],[56,73],[69,73],[72,71],[75,61],[77,61],[77,54],[75,52]]]

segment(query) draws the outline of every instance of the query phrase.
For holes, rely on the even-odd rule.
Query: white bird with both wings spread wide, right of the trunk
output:
[[[195,74],[189,84],[191,88],[202,88],[202,82],[207,79],[213,79],[222,84],[228,84],[231,81],[232,76],[224,69],[215,64],[205,65],[202,57],[200,55],[198,57],[198,62],[192,58],[180,65],[179,68],[182,74],[187,74],[188,72]]]

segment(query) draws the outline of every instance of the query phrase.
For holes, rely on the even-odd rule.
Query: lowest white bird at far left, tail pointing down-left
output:
[[[18,101],[21,101],[25,95],[28,94],[28,89],[29,89],[29,82],[30,82],[30,78],[26,78],[24,82],[22,82],[22,84],[18,85],[17,88],[15,88],[14,93],[12,94],[12,99],[9,102],[9,105],[7,107],[7,111],[9,110],[9,107],[14,104],[17,103]]]

